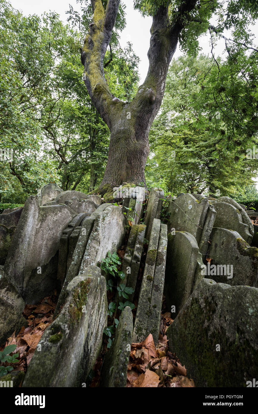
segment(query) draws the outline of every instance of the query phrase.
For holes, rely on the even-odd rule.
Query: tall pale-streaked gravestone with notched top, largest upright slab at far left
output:
[[[4,267],[26,303],[55,289],[60,237],[75,215],[65,205],[41,207],[34,196],[26,200]]]

